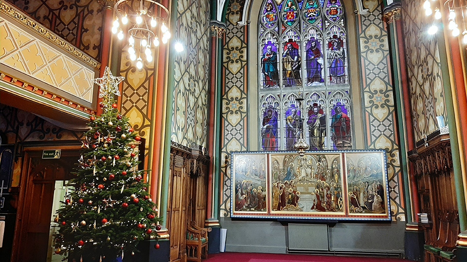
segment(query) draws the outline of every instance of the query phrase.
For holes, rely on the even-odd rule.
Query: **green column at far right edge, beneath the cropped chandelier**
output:
[[[439,50],[439,60],[442,65],[448,65],[448,48],[446,47],[446,39],[442,24],[438,24],[439,30],[437,33],[438,39],[438,50]],[[460,134],[457,133],[457,122],[455,119],[454,104],[452,97],[451,82],[449,76],[449,68],[441,67],[441,77],[443,79],[443,88],[445,95],[446,103],[446,112],[448,114],[448,124],[449,124],[449,142],[451,145],[452,153],[452,168],[454,170],[454,181],[456,186],[456,196],[457,196],[457,208],[459,210],[459,227],[461,231],[467,230],[467,211],[466,211],[466,198],[464,194],[464,187],[462,181],[462,168],[461,168],[461,157],[459,151],[459,137]],[[462,109],[461,109],[462,110]],[[465,109],[464,109],[465,110]]]

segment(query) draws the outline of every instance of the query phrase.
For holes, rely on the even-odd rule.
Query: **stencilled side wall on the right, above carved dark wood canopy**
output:
[[[438,129],[436,116],[447,120],[438,41],[426,33],[431,18],[420,11],[423,2],[402,1],[401,8],[415,141]]]

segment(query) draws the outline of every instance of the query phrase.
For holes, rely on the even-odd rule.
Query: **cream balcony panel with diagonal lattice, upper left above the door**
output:
[[[95,76],[92,68],[1,17],[0,47],[2,65],[92,103]],[[50,88],[48,91],[54,92]]]

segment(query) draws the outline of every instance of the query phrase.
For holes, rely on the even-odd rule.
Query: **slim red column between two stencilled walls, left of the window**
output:
[[[208,192],[206,199],[206,219],[213,218],[213,182],[214,182],[214,147],[215,137],[214,131],[216,129],[216,122],[214,116],[216,115],[216,87],[217,87],[217,34],[214,32],[211,35],[211,81],[209,91],[209,134],[208,134],[208,151],[211,162],[209,163],[208,170]]]

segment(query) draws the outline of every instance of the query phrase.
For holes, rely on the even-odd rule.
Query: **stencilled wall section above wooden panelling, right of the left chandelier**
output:
[[[178,39],[185,51],[175,56],[174,116],[171,140],[206,147],[209,90],[209,1],[181,0]]]

